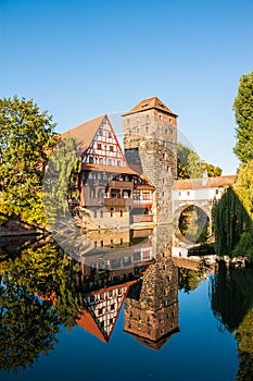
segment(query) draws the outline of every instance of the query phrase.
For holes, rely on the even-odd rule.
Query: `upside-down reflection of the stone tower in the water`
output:
[[[170,249],[159,254],[143,280],[130,287],[124,320],[125,332],[154,349],[178,331],[178,273]]]

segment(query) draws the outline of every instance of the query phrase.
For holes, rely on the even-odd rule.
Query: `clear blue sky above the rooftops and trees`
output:
[[[252,0],[0,0],[0,97],[33,98],[58,132],[155,95],[202,159],[235,173]]]

